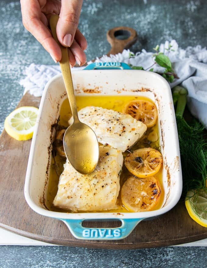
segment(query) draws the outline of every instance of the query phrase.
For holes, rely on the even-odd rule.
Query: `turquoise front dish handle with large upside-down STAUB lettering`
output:
[[[118,240],[127,237],[141,219],[114,219],[120,220],[121,226],[117,228],[86,228],[82,226],[84,220],[62,220],[75,238],[89,240]]]

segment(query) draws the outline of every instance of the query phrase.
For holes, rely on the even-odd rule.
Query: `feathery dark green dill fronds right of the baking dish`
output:
[[[190,189],[204,189],[207,178],[207,143],[204,126],[193,121],[187,124],[182,116],[176,116],[183,177],[182,197]]]

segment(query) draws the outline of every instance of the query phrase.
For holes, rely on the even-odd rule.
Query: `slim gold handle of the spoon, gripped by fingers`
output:
[[[59,64],[60,64],[63,80],[65,83],[65,88],[66,88],[66,92],[68,95],[68,100],[70,103],[73,120],[75,122],[75,121],[79,121],[79,119],[78,119],[78,112],[77,112],[77,106],[76,106],[76,101],[75,101],[75,94],[74,94],[72,76],[71,76],[71,70],[70,70],[70,64],[69,64],[68,48],[63,47],[58,41],[58,37],[56,33],[56,26],[58,23],[58,19],[59,19],[58,15],[52,15],[50,17],[50,27],[52,31],[52,36],[54,40],[58,43],[61,49],[62,58]]]

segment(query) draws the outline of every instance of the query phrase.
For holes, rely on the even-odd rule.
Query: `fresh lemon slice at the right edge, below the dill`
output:
[[[185,206],[193,220],[207,227],[207,189],[188,191]]]

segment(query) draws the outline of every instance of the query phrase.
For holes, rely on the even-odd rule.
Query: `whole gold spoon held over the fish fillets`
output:
[[[58,19],[58,15],[52,15],[50,18],[50,26],[52,36],[61,48],[62,58],[59,64],[73,116],[72,125],[70,125],[65,131],[65,135],[63,137],[63,146],[70,164],[79,173],[89,174],[96,168],[96,165],[98,163],[98,140],[95,132],[88,125],[80,122],[78,118],[71,70],[69,65],[68,48],[63,47],[59,43],[56,34],[56,25]]]

